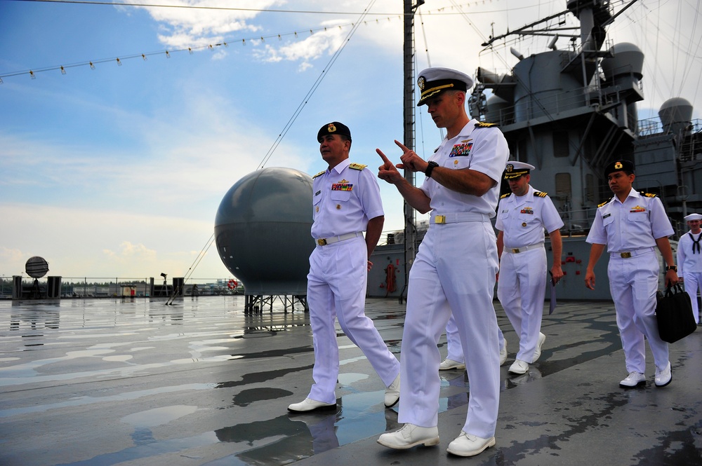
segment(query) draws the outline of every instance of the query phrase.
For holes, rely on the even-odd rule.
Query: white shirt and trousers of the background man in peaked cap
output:
[[[563,221],[545,193],[529,186],[524,196],[505,194],[497,207],[495,228],[503,231],[497,297],[519,336],[517,359],[534,362],[546,292],[545,231]],[[526,249],[526,250],[524,250]]]

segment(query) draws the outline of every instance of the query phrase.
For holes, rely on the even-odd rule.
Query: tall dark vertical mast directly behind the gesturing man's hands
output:
[[[404,81],[403,81],[403,115],[404,115],[404,145],[414,150],[414,12],[424,0],[404,0]],[[404,170],[404,178],[414,186],[414,172]],[[407,201],[404,201],[404,288],[400,292],[399,301],[406,299],[409,269],[416,257],[417,228],[416,212]]]

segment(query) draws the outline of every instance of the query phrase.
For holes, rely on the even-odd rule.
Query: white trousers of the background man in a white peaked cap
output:
[[[546,250],[503,251],[497,298],[519,336],[517,359],[534,362],[546,292]]]

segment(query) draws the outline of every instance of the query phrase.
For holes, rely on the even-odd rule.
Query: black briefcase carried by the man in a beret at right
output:
[[[665,294],[658,292],[656,320],[661,340],[675,343],[695,331],[697,322],[692,315],[690,295],[680,285],[667,287]]]

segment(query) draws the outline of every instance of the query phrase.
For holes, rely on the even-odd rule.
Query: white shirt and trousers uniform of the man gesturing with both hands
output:
[[[470,384],[463,431],[495,434],[500,399],[497,317],[492,303],[497,246],[489,219],[494,217],[499,180],[509,156],[498,128],[475,120],[459,135],[444,139],[430,160],[450,169],[470,168],[497,181],[484,196],[451,191],[427,178],[420,187],[430,198],[430,227],[409,273],[407,313],[402,336],[399,423],[438,424],[437,343],[451,313],[461,336]],[[446,223],[437,224],[437,215]]]

